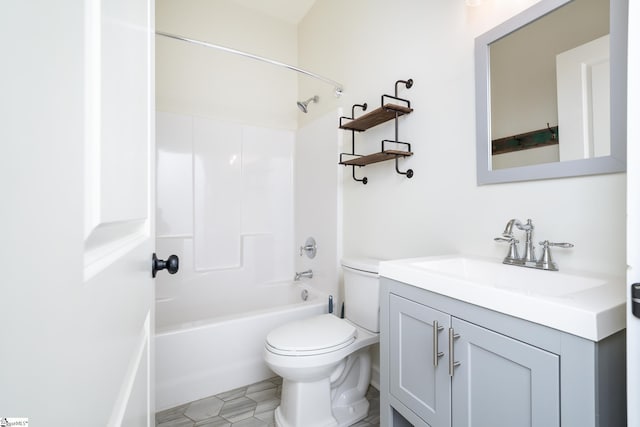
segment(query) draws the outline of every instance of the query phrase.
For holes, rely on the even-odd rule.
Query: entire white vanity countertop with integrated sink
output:
[[[385,261],[380,276],[599,341],[625,327],[625,281],[449,255]]]

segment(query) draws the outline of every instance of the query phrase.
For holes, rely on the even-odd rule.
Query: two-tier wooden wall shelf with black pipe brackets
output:
[[[410,114],[413,112],[411,108],[411,101],[403,98],[398,98],[398,84],[403,83],[407,89],[413,86],[413,80],[398,80],[395,84],[395,96],[382,95],[380,100],[380,108],[377,108],[370,113],[367,113],[358,118],[355,117],[355,109],[361,108],[362,111],[367,110],[367,104],[354,104],[351,107],[351,117],[340,117],[340,129],[351,131],[351,153],[340,153],[340,161],[338,162],[344,166],[352,167],[353,179],[366,184],[368,182],[367,177],[362,179],[356,178],[355,168],[356,166],[362,167],[370,165],[372,163],[384,162],[387,160],[395,160],[396,172],[405,175],[407,178],[413,176],[413,170],[408,169],[406,172],[400,171],[398,168],[398,159],[410,157],[413,155],[411,151],[411,144],[408,142],[402,142],[398,140],[398,118],[400,116]],[[385,102],[385,101],[390,102]],[[372,153],[368,155],[356,154],[355,152],[355,133],[364,132],[367,129],[371,129],[382,123],[395,120],[395,139],[385,139],[382,141],[382,147],[380,152]],[[388,147],[389,144],[393,144],[394,149]],[[405,150],[398,150],[398,145],[406,147]],[[345,157],[349,157],[345,160]]]

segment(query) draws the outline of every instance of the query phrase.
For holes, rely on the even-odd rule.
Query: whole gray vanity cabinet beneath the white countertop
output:
[[[625,334],[592,342],[381,278],[380,425],[624,426]]]

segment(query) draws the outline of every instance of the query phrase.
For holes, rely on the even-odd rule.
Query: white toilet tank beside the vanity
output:
[[[371,332],[380,332],[380,260],[345,258],[344,317]]]

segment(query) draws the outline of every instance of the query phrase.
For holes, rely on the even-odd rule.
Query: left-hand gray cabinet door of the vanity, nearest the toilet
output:
[[[432,427],[449,426],[451,382],[445,353],[450,316],[396,295],[389,299],[390,392]]]

